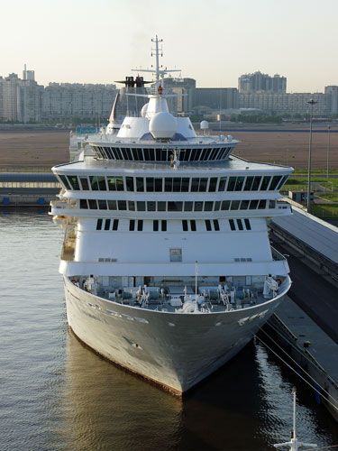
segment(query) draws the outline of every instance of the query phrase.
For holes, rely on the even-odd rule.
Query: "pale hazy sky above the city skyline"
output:
[[[15,0],[3,2],[0,75],[23,64],[50,81],[114,83],[161,63],[197,87],[237,87],[260,70],[288,92],[338,85],[338,0]],[[146,78],[146,77],[145,77]]]

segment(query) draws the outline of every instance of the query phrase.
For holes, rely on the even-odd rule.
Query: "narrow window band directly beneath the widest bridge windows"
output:
[[[206,202],[164,202],[143,200],[96,200],[80,199],[80,208],[91,210],[119,211],[219,211],[219,210],[255,210],[275,208],[276,200],[223,200]]]

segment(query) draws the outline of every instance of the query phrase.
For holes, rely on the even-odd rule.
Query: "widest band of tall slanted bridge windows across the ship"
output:
[[[122,177],[59,175],[66,189],[130,192],[216,192],[216,191],[274,191],[288,179],[281,176],[234,177]]]

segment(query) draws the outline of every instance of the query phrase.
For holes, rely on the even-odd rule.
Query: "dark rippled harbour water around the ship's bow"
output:
[[[183,402],[105,362],[69,333],[50,216],[0,210],[0,236],[2,451],[274,449],[289,437],[295,383],[299,438],[338,444],[324,406],[261,345]]]

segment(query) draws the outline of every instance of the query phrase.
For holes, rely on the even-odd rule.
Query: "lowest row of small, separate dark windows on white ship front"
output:
[[[251,230],[251,224],[249,219],[229,219],[229,226],[232,231],[234,230]],[[202,221],[200,222],[202,223]],[[118,230],[119,220],[118,219],[97,219],[96,222],[96,230]],[[220,226],[218,219],[214,219],[213,221],[206,219],[205,221],[206,231],[207,232],[219,232]],[[129,231],[142,232],[143,231],[143,219],[130,219],[129,220]],[[183,219],[182,221],[182,230],[183,232],[196,232],[196,220],[195,219]],[[155,219],[152,221],[152,231],[153,232],[167,232],[167,221],[165,219]]]

